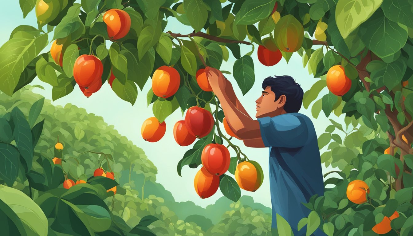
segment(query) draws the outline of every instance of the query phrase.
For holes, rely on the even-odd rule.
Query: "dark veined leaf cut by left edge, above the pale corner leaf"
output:
[[[13,186],[19,174],[19,156],[19,151],[13,145],[0,143],[0,176],[8,186]]]

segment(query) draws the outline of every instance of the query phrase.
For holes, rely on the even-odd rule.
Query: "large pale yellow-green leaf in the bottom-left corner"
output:
[[[0,201],[6,203],[20,218],[27,235],[47,235],[48,222],[45,213],[26,194],[0,185]]]

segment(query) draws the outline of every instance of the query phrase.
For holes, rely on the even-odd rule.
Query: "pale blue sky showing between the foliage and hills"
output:
[[[3,22],[1,26],[3,37],[0,39],[0,45],[3,45],[9,39],[12,30],[19,25],[26,24],[37,28],[34,10],[27,15],[26,19],[23,19],[18,0],[4,1],[3,7],[7,10],[0,15],[0,21]],[[173,17],[169,17],[168,19],[168,25],[166,26],[165,31],[169,30],[174,33],[182,34],[192,32],[190,27],[180,24],[173,19]],[[52,36],[52,33],[50,33],[50,40],[52,39]],[[107,43],[107,45],[109,46],[110,44]],[[49,51],[50,46],[51,43],[45,50],[43,50],[43,52]],[[241,55],[244,55],[250,50],[251,46],[242,45]],[[267,76],[290,75],[296,79],[297,83],[301,84],[304,91],[309,90],[313,83],[319,80],[318,78],[315,79],[312,75],[309,75],[307,67],[303,68],[302,58],[297,53],[292,55],[288,64],[282,59],[281,62],[273,67],[262,65],[258,61],[256,50],[252,54],[252,58],[254,59],[255,83],[253,88],[245,96],[242,96],[233,76],[226,76],[233,83],[236,95],[252,117],[255,116],[255,100],[261,95],[261,83]],[[221,70],[232,72],[234,62],[235,58],[230,52],[230,58],[228,62],[223,62]],[[37,77],[31,84],[40,84],[44,86],[45,90],[36,88],[33,91],[42,94],[47,99],[52,99],[52,86],[43,83]],[[53,104],[64,106],[66,103],[72,103],[78,107],[85,108],[90,113],[102,116],[104,121],[108,124],[113,124],[119,133],[133,141],[138,147],[143,148],[148,158],[152,160],[158,168],[157,181],[163,184],[166,190],[171,191],[177,201],[191,200],[195,202],[195,204],[201,206],[215,203],[215,201],[222,196],[222,193],[219,190],[214,196],[207,199],[199,198],[195,192],[193,180],[200,167],[198,167],[198,169],[191,169],[188,166],[185,166],[182,170],[183,177],[178,176],[176,172],[178,161],[183,157],[185,151],[191,147],[181,147],[176,144],[173,138],[174,124],[178,120],[183,119],[179,109],[166,119],[166,134],[160,141],[157,143],[149,143],[142,139],[142,136],[140,135],[141,125],[145,119],[153,116],[152,105],[147,107],[146,102],[146,94],[150,87],[151,83],[149,79],[145,84],[143,91],[138,91],[138,99],[133,106],[118,98],[107,83],[102,86],[99,92],[94,93],[90,98],[86,98],[83,93],[81,93],[78,86],[76,86],[72,93],[64,98],[56,100]],[[327,93],[327,88],[320,93],[319,98],[325,93]],[[330,124],[330,121],[325,117],[323,112],[321,112],[318,119],[312,118],[311,110],[305,110],[304,107],[301,108],[300,112],[311,117],[318,135],[323,133],[325,127]],[[343,117],[344,115],[340,116],[340,118]],[[334,114],[331,114],[330,118],[337,120],[337,117]],[[247,148],[239,140],[235,140],[234,143],[240,145],[242,151],[249,157],[249,159],[259,162],[261,167],[263,167],[264,172],[264,181],[261,188],[254,193],[241,190],[242,195],[251,195],[256,202],[271,207],[268,181],[268,148]],[[235,155],[231,153],[231,156]],[[330,170],[332,170],[330,167],[326,169],[323,165],[323,173]]]

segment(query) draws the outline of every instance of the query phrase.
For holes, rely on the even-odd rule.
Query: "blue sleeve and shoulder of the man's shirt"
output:
[[[308,140],[304,120],[292,114],[258,119],[261,138],[266,147],[299,148]]]

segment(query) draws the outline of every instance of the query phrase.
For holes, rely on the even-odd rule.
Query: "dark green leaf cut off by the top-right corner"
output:
[[[381,8],[385,16],[391,21],[413,28],[413,11],[411,6],[412,3],[409,0],[385,0]]]

